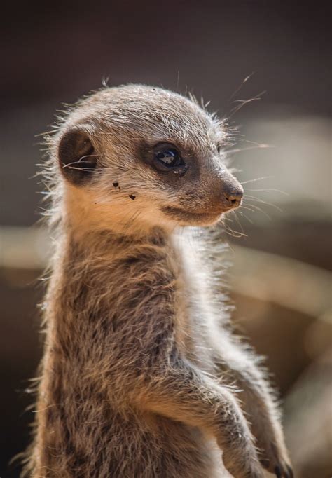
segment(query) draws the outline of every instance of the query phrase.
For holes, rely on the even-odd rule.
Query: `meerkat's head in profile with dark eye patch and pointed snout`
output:
[[[67,213],[93,228],[214,224],[243,195],[223,161],[225,137],[198,104],[161,88],[90,95],[53,144]]]

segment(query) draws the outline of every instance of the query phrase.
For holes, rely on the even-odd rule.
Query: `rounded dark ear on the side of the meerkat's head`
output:
[[[69,130],[64,134],[58,157],[62,174],[76,185],[90,181],[97,168],[97,153],[88,133],[82,129]]]

